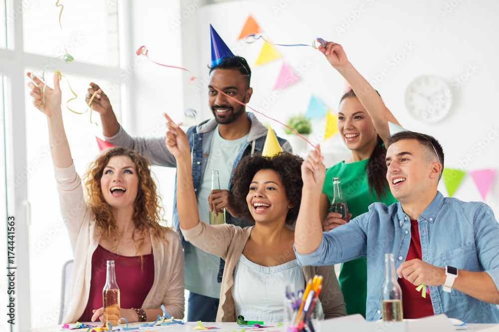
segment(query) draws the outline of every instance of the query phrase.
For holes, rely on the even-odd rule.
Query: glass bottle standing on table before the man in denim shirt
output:
[[[385,281],[381,289],[381,306],[383,321],[402,322],[402,289],[397,281],[393,254],[385,254]]]

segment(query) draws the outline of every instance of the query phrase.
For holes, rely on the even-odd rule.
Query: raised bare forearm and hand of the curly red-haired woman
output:
[[[26,73],[31,78],[31,73]],[[28,83],[29,96],[33,98],[33,106],[47,117],[48,141],[50,153],[55,167],[67,168],[73,163],[71,151],[62,123],[61,111],[61,89],[59,88],[59,77],[54,75],[54,89],[45,87],[36,76],[31,78],[33,82]],[[45,90],[44,90],[45,89]]]

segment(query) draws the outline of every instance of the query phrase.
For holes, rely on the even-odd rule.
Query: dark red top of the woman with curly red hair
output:
[[[102,308],[102,290],[106,284],[108,260],[114,260],[116,283],[120,288],[121,308],[141,308],[154,282],[154,257],[152,252],[142,256],[121,256],[104,249],[100,244],[92,255],[92,277],[88,302],[79,322],[90,322],[92,310]],[[75,299],[77,300],[77,299]]]

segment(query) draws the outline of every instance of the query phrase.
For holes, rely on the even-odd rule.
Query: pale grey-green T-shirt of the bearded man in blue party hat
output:
[[[212,192],[212,171],[219,171],[220,189],[228,189],[234,162],[247,139],[248,135],[235,140],[223,139],[220,136],[218,125],[215,128],[210,155],[198,193],[198,210],[201,221],[210,223],[208,196]],[[184,244],[184,254],[186,288],[197,294],[220,298],[221,283],[217,281],[220,257],[209,254],[189,242]]]

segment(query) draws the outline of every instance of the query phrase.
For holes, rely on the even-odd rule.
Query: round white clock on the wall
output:
[[[452,90],[437,76],[421,76],[407,87],[405,104],[409,112],[419,120],[436,122],[451,109]]]

